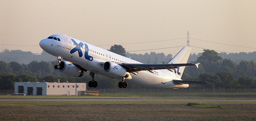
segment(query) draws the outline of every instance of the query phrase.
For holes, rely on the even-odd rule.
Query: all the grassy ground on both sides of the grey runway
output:
[[[255,99],[255,93],[132,94],[100,96],[0,96],[0,98]],[[5,120],[256,120],[255,101],[0,101]]]

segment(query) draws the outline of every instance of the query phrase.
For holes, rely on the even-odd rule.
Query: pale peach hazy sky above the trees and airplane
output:
[[[187,44],[188,30],[192,52],[256,51],[255,0],[0,0],[0,6],[0,44],[35,45],[1,51],[41,53],[41,39],[67,34],[104,49],[121,44],[130,53],[174,55]],[[142,42],[150,43],[132,44]],[[168,49],[148,50],[157,48]]]

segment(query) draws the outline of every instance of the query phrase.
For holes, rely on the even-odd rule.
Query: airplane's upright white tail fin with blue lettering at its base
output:
[[[191,50],[192,48],[189,48],[188,46],[183,47],[168,64],[187,63]],[[178,69],[173,69],[176,77],[181,78],[184,69],[185,66],[180,66]]]

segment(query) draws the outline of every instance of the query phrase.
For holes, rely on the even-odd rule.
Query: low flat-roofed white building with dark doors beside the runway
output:
[[[15,82],[14,93],[26,95],[77,95],[86,83]]]

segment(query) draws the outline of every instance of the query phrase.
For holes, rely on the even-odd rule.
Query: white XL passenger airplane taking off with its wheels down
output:
[[[184,46],[167,64],[143,64],[100,47],[88,44],[66,35],[54,34],[39,42],[47,53],[57,57],[54,69],[65,74],[82,77],[84,71],[90,71],[92,81],[89,87],[97,87],[95,74],[118,79],[119,88],[127,88],[128,83],[152,88],[188,88],[189,84],[209,84],[202,81],[182,80],[192,48]],[[62,61],[64,59],[66,61]],[[121,81],[122,80],[122,81]]]

